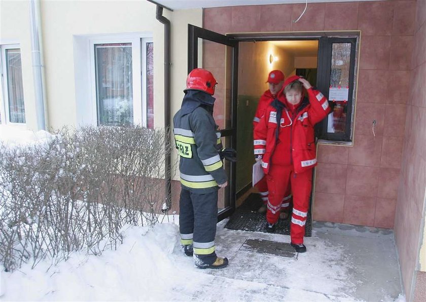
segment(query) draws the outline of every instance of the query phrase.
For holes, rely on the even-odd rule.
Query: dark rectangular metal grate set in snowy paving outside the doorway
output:
[[[299,256],[299,253],[294,250],[290,243],[266,239],[247,238],[238,250],[292,258],[294,260],[297,260]]]

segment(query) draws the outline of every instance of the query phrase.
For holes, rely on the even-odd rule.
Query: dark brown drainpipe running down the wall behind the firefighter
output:
[[[164,128],[166,130],[166,146],[165,146],[165,199],[167,209],[171,209],[171,150],[170,150],[170,20],[163,16],[163,8],[153,1],[148,0],[157,5],[156,19],[164,24]],[[167,9],[167,8],[166,8]],[[170,10],[170,9],[168,9]],[[170,10],[172,11],[172,10]]]

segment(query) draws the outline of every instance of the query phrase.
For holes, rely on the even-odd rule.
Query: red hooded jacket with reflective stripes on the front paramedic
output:
[[[316,166],[313,126],[329,114],[330,107],[321,92],[309,88],[292,112],[283,90],[299,78],[294,75],[286,80],[254,130],[254,152],[262,156],[265,174],[271,165],[293,166],[295,173]]]

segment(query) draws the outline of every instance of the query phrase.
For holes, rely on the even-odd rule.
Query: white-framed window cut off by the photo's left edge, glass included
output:
[[[2,98],[0,121],[2,124],[25,124],[22,62],[19,45],[1,45]]]

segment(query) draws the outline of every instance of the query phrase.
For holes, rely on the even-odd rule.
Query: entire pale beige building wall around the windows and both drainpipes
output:
[[[40,2],[44,49],[45,93],[49,129],[80,124],[78,102],[90,110],[89,91],[79,89],[79,69],[89,62],[79,60],[76,41],[89,37],[141,34],[154,42],[154,127],[164,127],[164,25],[156,19],[156,6],[146,1],[43,1]],[[26,126],[37,130],[31,62],[29,10],[26,1],[0,2],[0,43],[21,46]],[[187,75],[188,23],[202,26],[202,10],[182,10],[163,15],[171,22],[171,112],[179,108]],[[83,41],[83,42],[82,42]],[[82,67],[83,66],[83,67]],[[77,72],[77,73],[76,73]],[[76,81],[77,78],[77,81]],[[3,100],[2,100],[3,102]],[[81,106],[82,107],[82,106]],[[84,109],[84,108],[83,108]]]

